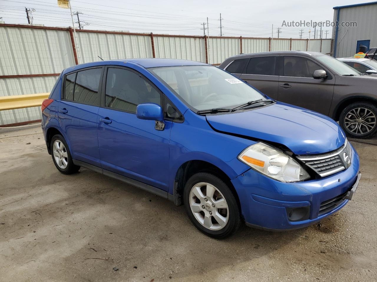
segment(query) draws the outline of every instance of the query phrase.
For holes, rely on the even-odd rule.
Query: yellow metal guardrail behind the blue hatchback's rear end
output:
[[[38,93],[0,97],[0,111],[40,107],[43,100],[47,99],[49,95],[50,93]]]

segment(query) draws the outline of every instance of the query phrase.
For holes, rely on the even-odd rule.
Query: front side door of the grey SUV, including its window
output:
[[[277,100],[328,115],[334,94],[334,76],[311,58],[304,56],[282,56],[282,58],[283,66],[279,76]],[[315,70],[325,70],[328,79],[314,79]]]

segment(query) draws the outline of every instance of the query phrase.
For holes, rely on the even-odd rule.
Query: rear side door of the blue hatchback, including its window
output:
[[[87,68],[64,76],[58,105],[59,123],[72,158],[100,167],[97,114],[101,102],[103,67]]]

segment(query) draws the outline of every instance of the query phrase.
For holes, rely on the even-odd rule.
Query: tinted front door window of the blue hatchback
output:
[[[109,68],[106,78],[106,107],[136,112],[144,103],[161,104],[159,92],[138,74]]]

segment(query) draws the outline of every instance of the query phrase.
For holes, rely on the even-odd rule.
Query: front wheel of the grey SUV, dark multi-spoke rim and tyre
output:
[[[377,108],[360,102],[348,105],[340,114],[339,123],[347,136],[368,138],[377,132]]]

